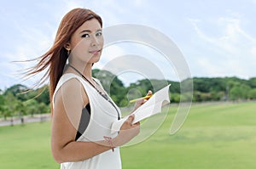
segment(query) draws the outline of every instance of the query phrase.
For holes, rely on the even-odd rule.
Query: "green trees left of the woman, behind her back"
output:
[[[35,115],[49,113],[48,86],[30,89],[16,84],[0,94],[0,117]]]

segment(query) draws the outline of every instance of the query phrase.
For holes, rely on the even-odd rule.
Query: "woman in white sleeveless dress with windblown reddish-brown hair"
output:
[[[51,149],[61,168],[121,168],[119,146],[139,133],[132,115],[119,132],[110,132],[120,118],[119,108],[91,76],[102,48],[101,17],[75,8],[61,20],[54,45],[30,72],[49,68],[42,81],[49,76]],[[135,108],[145,101],[137,101]]]

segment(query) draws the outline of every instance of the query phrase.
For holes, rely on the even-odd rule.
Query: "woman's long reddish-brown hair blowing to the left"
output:
[[[59,82],[64,66],[66,65],[68,54],[65,44],[70,41],[73,33],[84,24],[86,20],[95,18],[102,26],[102,18],[86,8],[74,8],[68,12],[59,25],[53,46],[44,55],[39,57],[38,64],[28,71],[27,76],[32,76],[47,69],[44,76],[38,82],[42,84],[49,78],[49,99],[51,100],[55,93],[55,87]]]

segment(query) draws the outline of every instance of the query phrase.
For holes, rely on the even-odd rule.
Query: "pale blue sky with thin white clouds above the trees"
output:
[[[78,7],[100,14],[103,27],[137,24],[164,33],[183,53],[191,76],[256,76],[256,0],[9,0],[0,3],[1,89],[16,83],[30,86],[37,80],[22,82],[17,73],[32,64],[11,61],[44,54],[54,41],[63,15]],[[127,51],[129,43],[109,49],[113,55]],[[103,67],[103,61],[96,68]],[[157,59],[151,61],[168,67]],[[122,76],[122,80],[134,82],[135,77],[139,78]],[[177,80],[169,72],[166,78]]]

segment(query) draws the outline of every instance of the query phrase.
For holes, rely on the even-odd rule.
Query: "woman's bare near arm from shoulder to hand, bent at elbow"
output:
[[[65,82],[55,95],[55,109],[52,117],[51,150],[55,161],[84,161],[112,149],[108,141],[79,142],[75,136],[79,127],[82,109],[89,103],[82,84],[71,79]],[[139,123],[131,125],[133,117],[125,121],[122,130],[113,138],[113,146],[127,143],[139,132]],[[132,130],[130,130],[132,129]]]

